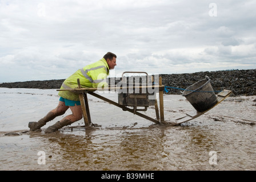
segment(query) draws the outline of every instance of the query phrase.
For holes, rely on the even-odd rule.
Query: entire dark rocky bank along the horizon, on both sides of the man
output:
[[[195,82],[205,78],[205,76],[208,76],[211,79],[211,86],[214,90],[232,90],[231,96],[256,96],[256,69],[162,74],[159,76],[162,77],[163,85],[182,89],[186,89]],[[64,80],[9,82],[0,84],[0,87],[59,89]],[[120,78],[115,78],[115,84],[119,80]],[[179,89],[169,89],[169,92],[166,94],[181,94],[181,91]]]

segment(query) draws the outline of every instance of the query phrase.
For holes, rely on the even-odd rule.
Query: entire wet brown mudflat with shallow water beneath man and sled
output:
[[[29,121],[37,121],[58,104],[57,94],[56,90],[0,88],[5,103],[0,106],[1,170],[256,169],[254,96],[229,97],[181,126],[159,126],[89,95],[91,119],[101,127],[22,133]],[[117,101],[117,94],[101,94]],[[165,95],[164,104],[166,121],[193,109],[182,96]],[[142,113],[155,117],[154,107]],[[77,125],[83,125],[83,120],[72,126]],[[19,135],[5,135],[10,131]],[[45,154],[45,164],[39,151]]]

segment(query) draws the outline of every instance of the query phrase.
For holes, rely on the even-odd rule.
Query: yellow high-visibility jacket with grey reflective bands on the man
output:
[[[78,69],[78,71],[63,82],[61,89],[78,88],[77,78],[79,78],[82,88],[107,87],[109,86],[106,82],[106,77],[108,75],[109,65],[107,64],[107,61],[102,58],[95,63]],[[75,92],[59,91],[58,95],[69,100],[79,101],[79,96]]]

